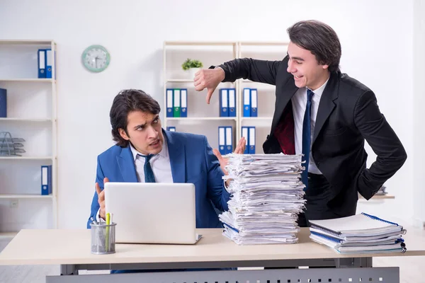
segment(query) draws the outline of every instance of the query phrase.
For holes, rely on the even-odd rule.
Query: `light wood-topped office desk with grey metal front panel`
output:
[[[406,229],[406,253],[358,255],[340,255],[310,241],[307,228],[298,233],[297,244],[238,246],[221,229],[198,229],[203,238],[196,245],[117,244],[111,255],[90,253],[90,230],[22,230],[0,253],[0,265],[61,265],[62,276],[47,282],[392,283],[399,282],[398,267],[372,268],[372,258],[425,255],[425,239]],[[310,268],[78,275],[78,270],[299,266]]]

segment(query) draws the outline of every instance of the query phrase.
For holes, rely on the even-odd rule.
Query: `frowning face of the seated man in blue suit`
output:
[[[159,115],[140,110],[127,116],[127,133],[119,129],[121,137],[128,140],[141,154],[159,154],[164,144]]]

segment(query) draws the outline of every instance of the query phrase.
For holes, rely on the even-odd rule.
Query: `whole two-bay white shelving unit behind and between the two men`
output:
[[[188,117],[164,117],[164,128],[174,126],[178,132],[205,134],[212,148],[217,148],[217,128],[219,126],[233,127],[233,145],[237,144],[242,135],[242,126],[259,127],[259,131],[256,132],[256,153],[263,153],[261,145],[270,132],[273,118],[275,87],[264,86],[262,83],[249,80],[220,83],[212,95],[210,105],[207,105],[205,103],[206,90],[195,91],[193,79],[185,74],[181,69],[181,64],[186,58],[199,59],[203,62],[203,68],[243,57],[279,60],[285,56],[287,45],[287,42],[164,42],[164,105],[162,108],[166,109],[166,88],[188,88]],[[249,47],[249,50],[253,47],[258,52],[251,56],[249,52],[244,52],[245,47]],[[264,48],[268,49],[269,47],[273,47],[275,51],[280,51],[278,53],[264,53]],[[264,54],[266,54],[266,57],[264,57]],[[244,87],[258,88],[259,98],[261,96],[261,100],[263,100],[266,97],[265,101],[260,102],[259,99],[259,117],[243,117],[242,91]],[[237,117],[220,117],[218,96],[220,88],[236,88]],[[266,108],[266,105],[271,106]],[[205,127],[205,124],[201,125],[201,123],[207,123],[208,127]]]

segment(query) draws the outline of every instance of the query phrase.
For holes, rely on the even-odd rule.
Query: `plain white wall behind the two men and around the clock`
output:
[[[140,88],[162,105],[164,40],[282,41],[288,26],[311,18],[339,34],[342,70],[375,91],[409,155],[387,182],[396,199],[359,209],[411,219],[412,188],[418,187],[412,182],[413,16],[413,1],[6,0],[0,2],[0,37],[57,42],[61,228],[86,224],[96,156],[113,144],[113,97],[123,88]],[[92,44],[111,52],[111,65],[101,74],[81,66],[81,52]]]

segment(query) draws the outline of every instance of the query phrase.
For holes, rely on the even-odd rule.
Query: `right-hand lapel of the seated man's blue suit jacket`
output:
[[[186,154],[184,144],[181,143],[177,134],[174,132],[162,131],[166,137],[168,152],[171,163],[171,175],[174,183],[186,182]]]

